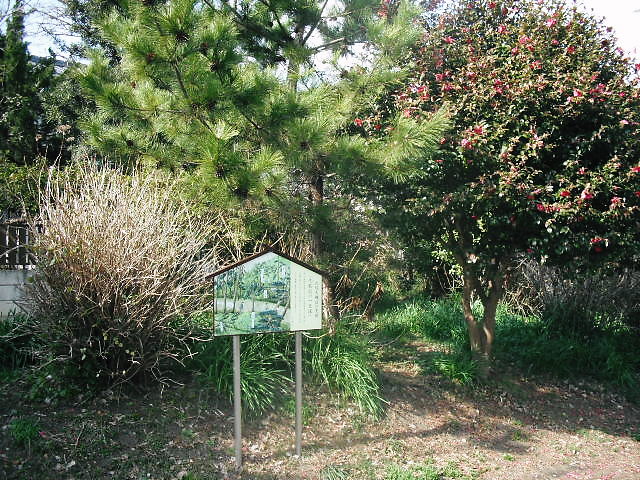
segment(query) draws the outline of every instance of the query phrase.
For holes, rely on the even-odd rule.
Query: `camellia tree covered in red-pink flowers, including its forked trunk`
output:
[[[393,106],[416,119],[446,107],[452,128],[439,155],[387,189],[387,221],[459,265],[471,350],[488,375],[514,259],[638,260],[640,65],[562,0],[458,2],[410,62]],[[389,103],[367,118],[371,133]]]

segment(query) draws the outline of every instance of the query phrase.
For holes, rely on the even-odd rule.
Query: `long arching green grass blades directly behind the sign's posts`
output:
[[[367,343],[340,329],[334,335],[303,337],[303,372],[306,381],[326,385],[354,402],[365,414],[382,413],[378,378]],[[293,388],[295,341],[289,334],[241,337],[242,402],[249,415],[277,405]],[[194,347],[190,367],[214,390],[233,398],[231,338],[217,337]]]

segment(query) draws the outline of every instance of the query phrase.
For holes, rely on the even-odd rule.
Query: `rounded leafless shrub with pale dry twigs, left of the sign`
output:
[[[91,169],[49,182],[38,221],[26,293],[41,354],[107,385],[162,378],[188,355],[205,276],[233,245],[226,224],[196,218],[166,178]]]

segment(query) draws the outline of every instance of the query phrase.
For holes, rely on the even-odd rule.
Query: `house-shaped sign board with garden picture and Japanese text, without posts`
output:
[[[214,276],[214,334],[322,328],[322,276],[266,252]]]

